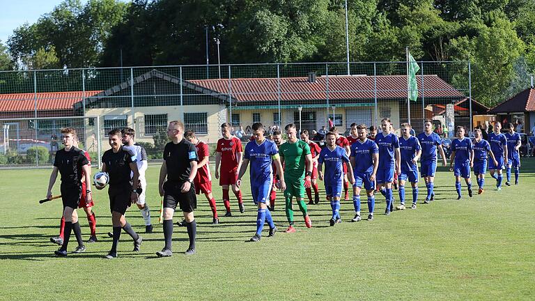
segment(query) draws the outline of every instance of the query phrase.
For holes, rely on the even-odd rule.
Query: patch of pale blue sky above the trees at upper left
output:
[[[25,22],[35,23],[41,15],[50,13],[63,0],[0,0],[0,40],[6,45],[13,29]],[[82,0],[86,3],[86,0]]]

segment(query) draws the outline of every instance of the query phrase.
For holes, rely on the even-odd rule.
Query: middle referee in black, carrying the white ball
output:
[[[111,250],[104,258],[117,257],[117,245],[121,237],[121,228],[134,240],[134,252],[139,251],[143,240],[132,226],[126,221],[125,213],[131,203],[136,203],[139,188],[139,171],[137,171],[137,157],[123,148],[121,131],[111,130],[108,133],[108,143],[111,149],[102,155],[102,171],[109,174],[109,210],[111,222],[114,226],[114,241]],[[130,183],[130,171],[134,173]],[[102,189],[102,188],[97,188]]]

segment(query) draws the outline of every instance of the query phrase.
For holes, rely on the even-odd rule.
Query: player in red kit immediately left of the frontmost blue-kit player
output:
[[[230,123],[223,123],[221,125],[221,133],[223,134],[223,138],[217,140],[217,147],[215,148],[215,178],[219,179],[219,185],[223,187],[223,203],[226,208],[225,217],[230,217],[232,216],[231,201],[228,196],[228,188],[230,186],[238,199],[240,213],[244,213],[245,211],[242,192],[236,185],[238,171],[240,171],[240,167],[242,166],[243,148],[242,141],[231,134],[232,125]],[[220,171],[219,166],[221,166]]]

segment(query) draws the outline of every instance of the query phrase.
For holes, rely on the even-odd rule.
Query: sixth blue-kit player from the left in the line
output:
[[[430,120],[424,122],[424,132],[418,134],[421,146],[420,173],[427,187],[427,196],[424,203],[429,203],[435,198],[435,172],[437,171],[437,150],[442,157],[442,165],[446,166],[446,155],[442,148],[442,139],[433,132],[433,123]]]

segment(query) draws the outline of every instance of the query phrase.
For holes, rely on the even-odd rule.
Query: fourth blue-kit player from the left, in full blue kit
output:
[[[394,169],[401,173],[399,140],[396,134],[390,132],[390,119],[382,118],[382,132],[375,137],[375,143],[379,147],[379,166],[377,169],[377,185],[380,192],[387,199],[387,208],[385,215],[390,215],[393,209],[394,196],[392,192],[392,183],[394,182]],[[395,159],[395,160],[394,160]]]

